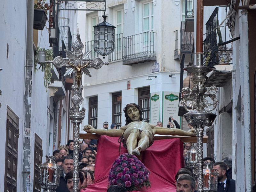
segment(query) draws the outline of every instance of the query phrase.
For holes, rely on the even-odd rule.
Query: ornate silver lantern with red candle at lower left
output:
[[[55,163],[55,156],[47,156],[46,162],[39,165],[39,183],[44,189],[43,192],[55,192],[60,185],[61,167]]]

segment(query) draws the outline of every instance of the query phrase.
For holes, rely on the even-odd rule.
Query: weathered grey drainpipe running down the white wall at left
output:
[[[33,17],[34,17],[34,0],[27,1],[27,36],[26,36],[26,65],[25,65],[25,96],[24,96],[24,132],[26,129],[30,130],[30,108],[31,105],[29,100],[31,98],[31,80],[33,73]],[[23,137],[23,168],[22,168],[22,178],[23,187],[22,191],[27,192],[27,185],[30,184],[30,137],[24,134]],[[33,157],[32,157],[33,159]]]

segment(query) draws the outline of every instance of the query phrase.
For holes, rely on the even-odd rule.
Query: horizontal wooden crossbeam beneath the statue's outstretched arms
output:
[[[100,135],[98,134],[92,134],[92,133],[80,133],[80,139],[99,139]],[[190,143],[196,143],[197,137],[190,137],[190,136],[159,136],[155,135],[154,140],[162,140],[162,139],[173,139],[173,138],[179,138],[182,142],[190,142]],[[203,137],[203,143],[207,143],[207,136]]]

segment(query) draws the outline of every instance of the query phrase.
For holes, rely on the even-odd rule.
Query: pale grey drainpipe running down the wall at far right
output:
[[[244,129],[244,165],[245,165],[245,191],[251,191],[252,185],[252,158],[251,158],[251,127],[250,127],[250,84],[249,84],[249,37],[248,37],[248,11],[241,11],[242,27],[240,32],[240,70],[242,93],[242,128]]]

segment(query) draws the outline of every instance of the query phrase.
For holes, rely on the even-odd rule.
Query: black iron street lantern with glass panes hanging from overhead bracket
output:
[[[94,51],[105,59],[105,55],[112,53],[115,49],[115,26],[106,22],[107,15],[102,15],[103,22],[94,25]]]

